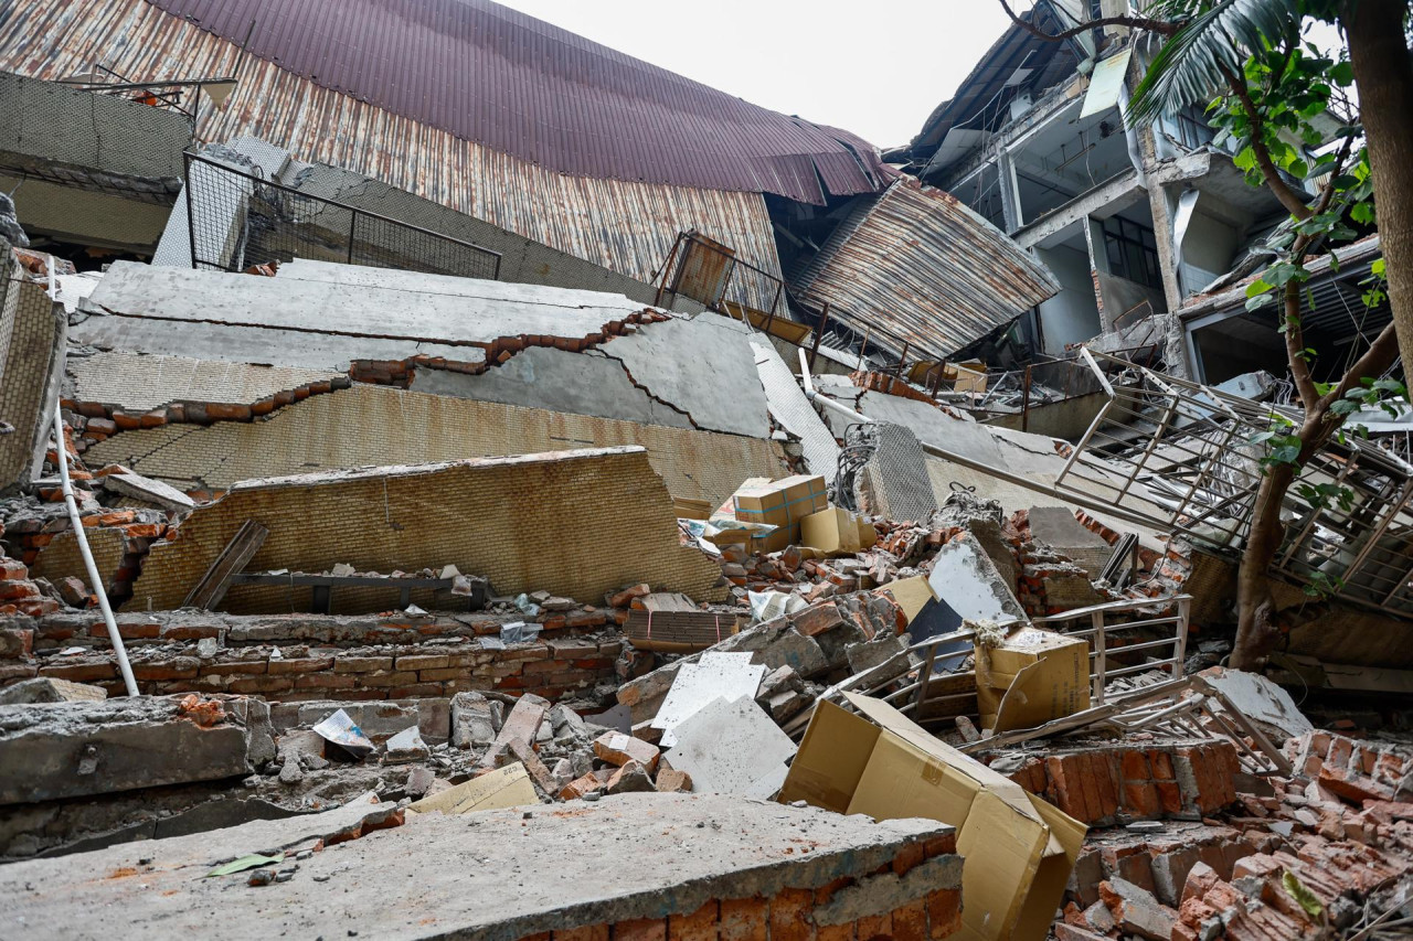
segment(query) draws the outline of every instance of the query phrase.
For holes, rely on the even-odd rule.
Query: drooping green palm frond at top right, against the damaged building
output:
[[[1181,0],[1167,0],[1174,13]],[[1195,4],[1188,3],[1188,8]],[[1296,0],[1221,0],[1178,30],[1133,90],[1129,120],[1146,124],[1212,97],[1226,85],[1222,69],[1241,73],[1246,49],[1279,42],[1299,27]]]

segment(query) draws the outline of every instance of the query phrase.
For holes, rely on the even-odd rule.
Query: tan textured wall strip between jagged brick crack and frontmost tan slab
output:
[[[513,362],[513,360],[512,360]],[[729,497],[752,476],[788,473],[764,438],[616,421],[544,408],[353,384],[253,422],[168,424],[124,431],[85,451],[181,489],[314,469],[421,463],[564,448],[643,445],[673,496]]]

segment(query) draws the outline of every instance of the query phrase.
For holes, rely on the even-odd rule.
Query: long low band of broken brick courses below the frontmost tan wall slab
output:
[[[23,567],[21,567],[23,568]],[[547,698],[617,682],[622,636],[603,612],[571,616],[533,643],[483,646],[492,617],[235,617],[208,612],[120,615],[144,694],[235,692],[266,699],[404,699],[466,690]],[[0,685],[55,677],[122,694],[107,626],[96,613],[10,617],[0,627]],[[203,654],[201,640],[215,640]],[[83,647],[85,653],[61,654]],[[278,650],[278,653],[276,653]]]

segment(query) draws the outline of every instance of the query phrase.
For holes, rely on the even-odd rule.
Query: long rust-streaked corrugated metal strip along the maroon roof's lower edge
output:
[[[274,17],[261,14],[266,20]],[[189,79],[232,73],[239,54],[237,42],[147,0],[0,3],[0,69],[20,75],[59,79],[100,61],[144,81]],[[445,90],[434,89],[431,99],[449,106]],[[196,133],[203,141],[268,140],[300,160],[380,179],[640,281],[653,280],[677,233],[690,229],[780,270],[760,192],[555,172],[321,88],[254,55],[242,62],[225,107],[201,99]]]

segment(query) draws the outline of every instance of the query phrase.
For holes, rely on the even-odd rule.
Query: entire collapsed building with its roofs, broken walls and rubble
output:
[[[1354,496],[1293,489],[1224,668],[1277,211],[1123,127],[1145,49],[1007,30],[886,161],[492,3],[342,16],[0,18],[0,934],[1413,920],[1410,468],[1310,462]]]

